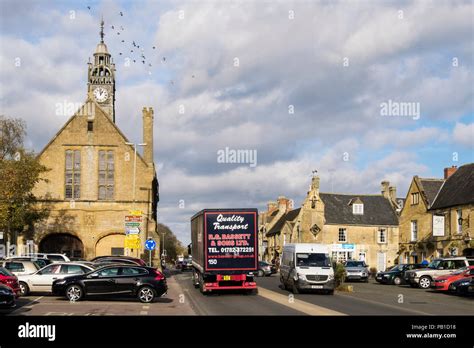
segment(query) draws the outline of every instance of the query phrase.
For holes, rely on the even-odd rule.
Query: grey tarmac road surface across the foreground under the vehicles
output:
[[[50,294],[20,297],[14,309],[0,315],[472,315],[474,298],[409,286],[351,283],[354,292],[294,295],[280,287],[278,275],[256,278],[256,295],[239,291],[203,295],[191,282],[191,271],[166,271],[168,292],[151,304],[130,297],[93,297],[71,303]]]

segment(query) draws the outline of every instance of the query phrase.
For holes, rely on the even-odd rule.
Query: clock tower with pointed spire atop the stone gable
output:
[[[100,22],[100,42],[94,53],[94,61],[89,59],[88,63],[87,92],[115,122],[115,64],[104,43],[103,19]]]

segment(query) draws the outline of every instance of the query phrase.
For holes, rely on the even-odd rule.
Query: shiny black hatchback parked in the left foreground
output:
[[[111,265],[95,271],[58,279],[53,282],[54,295],[79,301],[90,295],[132,295],[141,302],[152,302],[168,290],[166,277],[160,271],[144,266]]]

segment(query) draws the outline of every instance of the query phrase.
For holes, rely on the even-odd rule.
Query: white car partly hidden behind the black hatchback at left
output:
[[[51,292],[51,286],[56,279],[63,279],[74,274],[85,274],[95,268],[75,262],[52,263],[33,274],[18,276],[20,293],[23,296],[30,292]]]

